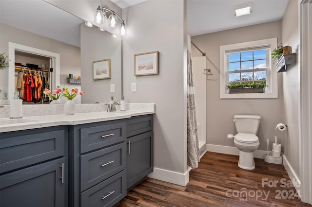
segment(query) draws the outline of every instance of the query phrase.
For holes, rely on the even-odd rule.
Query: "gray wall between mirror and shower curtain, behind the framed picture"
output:
[[[183,0],[148,0],[123,10],[123,92],[128,103],[156,103],[154,165],[185,173],[186,83]],[[159,51],[159,74],[134,76],[134,54]],[[131,92],[137,83],[137,92]]]

